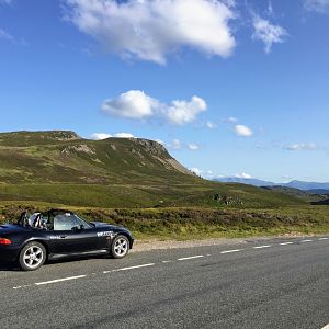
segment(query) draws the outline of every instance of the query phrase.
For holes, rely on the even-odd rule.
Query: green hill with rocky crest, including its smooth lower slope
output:
[[[0,134],[0,201],[97,207],[277,207],[293,195],[195,177],[152,140],[73,132]]]

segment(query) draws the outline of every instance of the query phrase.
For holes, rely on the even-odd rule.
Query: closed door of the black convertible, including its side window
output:
[[[53,253],[79,253],[98,249],[95,229],[72,213],[57,214],[52,234]]]

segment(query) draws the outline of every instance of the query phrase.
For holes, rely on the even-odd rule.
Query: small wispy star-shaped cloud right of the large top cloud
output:
[[[252,34],[253,39],[259,39],[264,43],[265,53],[270,53],[273,44],[283,43],[287,36],[285,29],[279,25],[271,24],[270,21],[253,15],[253,27],[254,33]]]

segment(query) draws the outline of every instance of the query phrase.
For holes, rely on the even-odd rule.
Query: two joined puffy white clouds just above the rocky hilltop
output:
[[[116,99],[105,100],[101,106],[103,113],[112,116],[134,120],[158,117],[175,125],[195,121],[206,109],[206,102],[196,95],[191,101],[175,100],[166,104],[140,90],[131,90]]]

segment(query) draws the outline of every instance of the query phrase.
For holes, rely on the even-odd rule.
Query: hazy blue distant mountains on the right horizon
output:
[[[288,183],[273,183],[269,181],[258,180],[258,179],[243,179],[243,178],[219,178],[215,179],[217,182],[225,183],[241,183],[253,186],[284,186],[292,188],[302,191],[314,191],[314,194],[327,194],[329,193],[329,183],[316,183],[316,182],[303,182],[303,181],[291,181]],[[328,191],[327,191],[328,190]],[[325,191],[325,193],[322,193]]]

